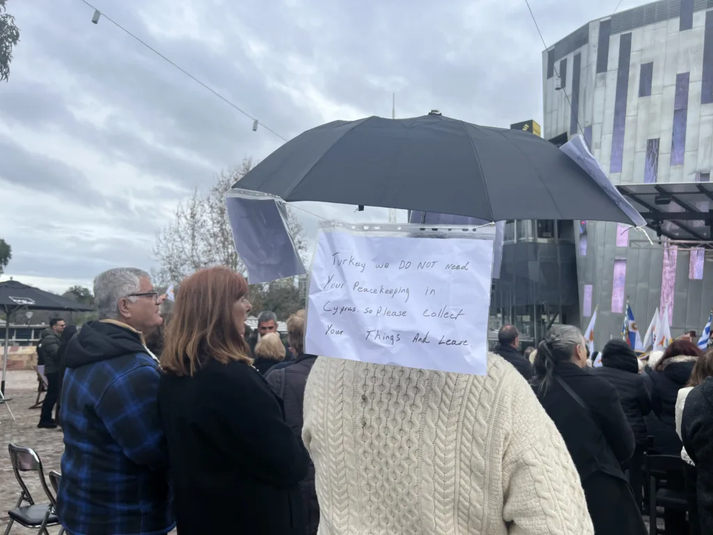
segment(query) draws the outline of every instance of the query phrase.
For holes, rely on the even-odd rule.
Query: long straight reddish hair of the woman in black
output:
[[[163,370],[193,376],[207,359],[252,364],[232,312],[246,296],[247,282],[227,267],[210,267],[183,280],[165,334]]]

